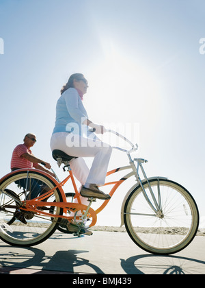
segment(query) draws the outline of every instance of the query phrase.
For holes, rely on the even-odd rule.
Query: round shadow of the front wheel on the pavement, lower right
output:
[[[205,261],[183,256],[141,254],[120,261],[126,274],[205,274]]]

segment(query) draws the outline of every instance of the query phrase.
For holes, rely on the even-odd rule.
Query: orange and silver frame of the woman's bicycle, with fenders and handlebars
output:
[[[110,176],[111,174],[113,173],[116,173],[118,171],[123,171],[123,170],[126,170],[126,169],[131,169],[132,171],[130,173],[127,173],[124,177],[120,178],[120,180],[118,181],[113,181],[113,182],[107,182],[105,183],[103,186],[107,186],[107,185],[111,185],[113,184],[113,188],[111,189],[109,195],[112,197],[113,194],[115,193],[115,191],[118,189],[118,187],[120,187],[120,185],[125,181],[127,180],[128,178],[130,178],[131,176],[135,176],[135,179],[137,181],[137,184],[135,184],[131,189],[130,191],[128,191],[128,193],[126,194],[125,198],[124,198],[124,201],[122,203],[122,213],[121,215],[123,216],[123,211],[124,211],[124,203],[126,202],[126,199],[128,197],[128,195],[131,193],[131,191],[133,191],[133,189],[135,189],[135,187],[139,186],[141,187],[142,191],[143,191],[143,195],[144,197],[146,198],[146,201],[148,202],[148,204],[150,205],[150,207],[152,208],[152,211],[154,211],[154,213],[157,215],[159,215],[159,213],[161,213],[161,197],[160,197],[160,191],[158,191],[158,196],[159,196],[159,202],[157,202],[155,196],[154,196],[154,193],[152,191],[152,188],[149,184],[149,179],[150,178],[147,178],[146,176],[146,173],[143,169],[143,166],[142,164],[143,163],[147,163],[148,161],[145,160],[145,159],[141,159],[141,158],[135,158],[135,159],[132,159],[131,158],[131,153],[132,152],[135,152],[137,151],[138,149],[138,146],[137,145],[133,145],[133,143],[131,143],[131,141],[129,141],[128,139],[126,139],[124,136],[120,135],[118,132],[115,132],[113,130],[107,130],[107,132],[112,132],[114,134],[116,134],[117,136],[119,136],[120,138],[124,139],[124,141],[126,141],[129,145],[132,146],[132,148],[130,150],[126,150],[126,149],[122,149],[120,147],[113,147],[115,149],[118,149],[122,152],[126,152],[127,156],[128,156],[128,159],[129,159],[129,163],[130,165],[128,166],[124,166],[124,167],[120,167],[120,168],[117,168],[117,169],[113,169],[109,172],[107,172],[107,176]],[[137,167],[135,166],[135,162],[137,162]],[[44,211],[41,211],[38,207],[41,207],[41,206],[57,206],[59,208],[63,208],[64,209],[64,213],[66,214],[67,211],[70,211],[70,212],[75,212],[75,211],[85,211],[85,214],[87,213],[90,213],[90,216],[92,217],[92,223],[90,224],[90,227],[91,226],[94,226],[96,224],[96,221],[97,221],[97,217],[96,215],[98,213],[100,213],[104,208],[105,206],[107,206],[108,202],[110,200],[105,200],[102,205],[96,209],[96,211],[94,211],[94,209],[92,209],[90,206],[92,204],[92,202],[90,202],[90,205],[86,206],[86,205],[83,205],[81,204],[81,199],[80,199],[80,193],[79,191],[77,190],[77,185],[75,183],[75,180],[74,180],[74,176],[72,174],[72,171],[70,169],[70,165],[68,163],[68,165],[66,165],[66,167],[68,167],[68,172],[69,172],[69,175],[61,182],[59,182],[59,180],[57,181],[55,178],[53,178],[52,176],[50,176],[48,173],[45,173],[41,170],[39,170],[38,172],[42,173],[44,176],[46,176],[46,178],[50,178],[50,180],[54,183],[54,188],[51,189],[50,191],[44,193],[43,195],[40,195],[32,200],[26,200],[25,202],[23,202],[23,206],[20,208],[22,210],[25,210],[25,211],[31,211],[33,213],[37,213],[39,215],[45,215],[45,216],[49,216],[49,217],[57,217],[57,218],[64,218],[64,219],[72,219],[73,217],[70,217],[70,216],[65,216],[65,215],[53,215],[51,213],[46,213]],[[141,180],[140,176],[139,176],[139,168],[141,169],[141,172],[143,174],[143,177],[144,179]],[[19,169],[18,171],[27,171],[27,174],[29,175],[29,171],[36,171],[36,169]],[[54,171],[53,171],[54,172]],[[13,174],[13,173],[18,173],[17,171],[14,171],[14,172],[11,172],[10,174]],[[54,172],[55,173],[55,172]],[[56,174],[55,174],[56,175]],[[8,176],[8,175],[7,175]],[[5,176],[6,177],[6,176]],[[56,176],[57,178],[57,176]],[[64,184],[66,184],[66,182],[68,182],[68,180],[72,181],[72,186],[74,188],[74,192],[75,192],[75,196],[74,198],[77,198],[78,199],[78,203],[70,203],[70,202],[66,202],[66,195],[64,193],[64,189],[62,188],[64,186]],[[3,180],[3,178],[1,179]],[[150,201],[150,198],[148,197],[145,189],[143,188],[143,183],[144,182],[148,182],[148,188],[149,188],[149,191],[150,191],[150,195],[152,197],[152,200],[154,202],[154,205],[152,204],[152,202]],[[42,200],[46,199],[47,197],[50,197],[52,194],[53,194],[53,191],[55,191],[55,189],[58,189],[59,192],[61,193],[61,197],[62,197],[62,200],[63,202],[42,202]],[[154,207],[155,206],[155,207]],[[122,224],[121,226],[124,224],[124,220],[123,220],[123,217],[122,217]]]

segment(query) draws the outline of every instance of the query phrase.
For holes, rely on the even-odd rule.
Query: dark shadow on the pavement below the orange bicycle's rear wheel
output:
[[[0,248],[5,248],[5,246],[0,246]],[[12,248],[14,247],[11,246],[13,251]],[[30,268],[53,271],[53,274],[55,272],[77,274],[75,267],[83,265],[90,267],[90,273],[104,274],[99,267],[90,263],[89,260],[78,257],[78,254],[87,252],[85,250],[58,251],[53,256],[48,256],[38,248],[15,247],[15,252],[0,253],[0,274],[1,267],[13,268],[15,271]],[[41,272],[34,274],[41,274]]]

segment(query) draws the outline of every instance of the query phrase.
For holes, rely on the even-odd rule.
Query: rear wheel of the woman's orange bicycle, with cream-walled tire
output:
[[[36,195],[49,191],[56,186],[49,177],[38,171],[16,171],[0,183],[0,238],[16,246],[31,246],[42,243],[57,229],[61,221],[58,215],[63,209],[55,207],[53,217],[41,213],[21,210],[22,201],[31,193]],[[61,193],[55,189],[48,202],[62,202]],[[46,204],[46,202],[45,202]],[[49,213],[51,206],[44,206],[42,211]],[[5,225],[4,225],[5,224]]]

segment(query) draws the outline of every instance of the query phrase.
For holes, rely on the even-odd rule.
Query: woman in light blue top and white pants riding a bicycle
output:
[[[83,74],[76,73],[61,88],[61,97],[56,106],[55,128],[51,136],[51,150],[59,149],[77,157],[70,161],[70,167],[77,180],[83,184],[80,192],[83,197],[109,200],[110,196],[100,191],[98,186],[105,184],[112,148],[88,131],[89,128],[94,128],[96,134],[103,134],[105,128],[88,119],[82,102],[87,87]],[[88,169],[82,157],[94,157],[91,169]]]

